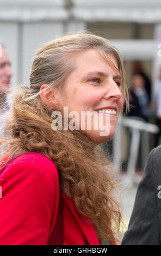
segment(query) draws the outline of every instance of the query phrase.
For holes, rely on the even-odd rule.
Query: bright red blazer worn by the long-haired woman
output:
[[[58,171],[46,156],[18,156],[0,175],[0,245],[47,245],[59,201]],[[73,200],[61,193],[64,245],[100,245],[89,218],[85,222]]]

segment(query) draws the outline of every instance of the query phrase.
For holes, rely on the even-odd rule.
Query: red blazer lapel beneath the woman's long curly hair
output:
[[[100,242],[96,235],[96,231],[94,229],[94,226],[92,225],[92,222],[90,221],[90,218],[84,217],[78,214],[73,200],[67,197],[64,192],[61,192],[61,197],[65,200],[66,204],[69,206],[73,216],[76,218],[76,221],[78,222],[80,229],[82,229],[89,245],[100,245]],[[85,222],[83,219],[86,220],[88,223]]]

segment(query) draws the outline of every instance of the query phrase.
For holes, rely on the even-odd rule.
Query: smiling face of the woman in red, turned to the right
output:
[[[112,55],[109,57],[118,68],[116,59]],[[63,89],[58,93],[59,105],[62,109],[68,107],[69,113],[71,111],[78,113],[73,115],[76,124],[79,130],[92,141],[96,144],[106,142],[115,134],[117,120],[123,106],[119,88],[121,76],[119,71],[112,68],[96,50],[79,52],[74,61],[75,69],[67,76]],[[81,121],[84,121],[82,111],[94,113],[94,117],[91,118],[91,128],[87,126],[89,117],[85,118],[85,130],[80,126]],[[103,113],[105,111],[107,113]],[[104,130],[100,128],[99,120],[100,122],[102,120]],[[98,129],[94,129],[97,125]]]

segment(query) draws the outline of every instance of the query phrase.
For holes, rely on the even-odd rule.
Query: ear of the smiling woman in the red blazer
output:
[[[40,87],[40,98],[47,106],[57,106],[56,88],[42,84]]]

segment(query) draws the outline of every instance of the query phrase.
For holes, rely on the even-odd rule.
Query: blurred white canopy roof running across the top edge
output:
[[[70,8],[71,7],[71,8]],[[161,21],[160,0],[1,0],[0,20]]]

